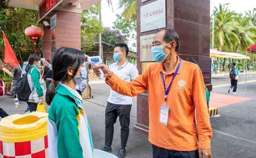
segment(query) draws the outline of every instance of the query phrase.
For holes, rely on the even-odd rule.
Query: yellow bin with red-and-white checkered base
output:
[[[0,122],[0,157],[48,158],[48,113],[4,117]]]

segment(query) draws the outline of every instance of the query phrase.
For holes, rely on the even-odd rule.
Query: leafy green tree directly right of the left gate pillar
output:
[[[99,4],[95,4],[81,14],[81,43],[84,51],[92,49],[95,38],[103,32],[98,19],[99,12]]]

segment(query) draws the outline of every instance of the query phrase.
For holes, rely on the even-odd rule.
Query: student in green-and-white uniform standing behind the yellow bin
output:
[[[28,75],[28,83],[31,90],[27,104],[30,112],[36,111],[37,104],[44,102],[44,90],[46,90],[44,83],[41,82],[41,74],[38,68],[41,66],[40,57],[31,54],[28,58],[28,65],[25,71]]]

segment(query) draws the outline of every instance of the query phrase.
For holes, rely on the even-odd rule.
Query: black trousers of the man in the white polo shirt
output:
[[[121,147],[125,148],[129,137],[130,112],[132,105],[117,105],[108,102],[105,113],[105,146],[111,147],[114,124],[119,117],[121,125]]]

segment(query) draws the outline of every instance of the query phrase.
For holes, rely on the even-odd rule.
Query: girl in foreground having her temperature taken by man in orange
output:
[[[47,124],[49,157],[93,157],[90,126],[82,97],[75,90],[81,71],[85,69],[84,62],[84,53],[73,48],[60,48],[52,57],[52,82],[46,92],[46,102],[50,105]]]

